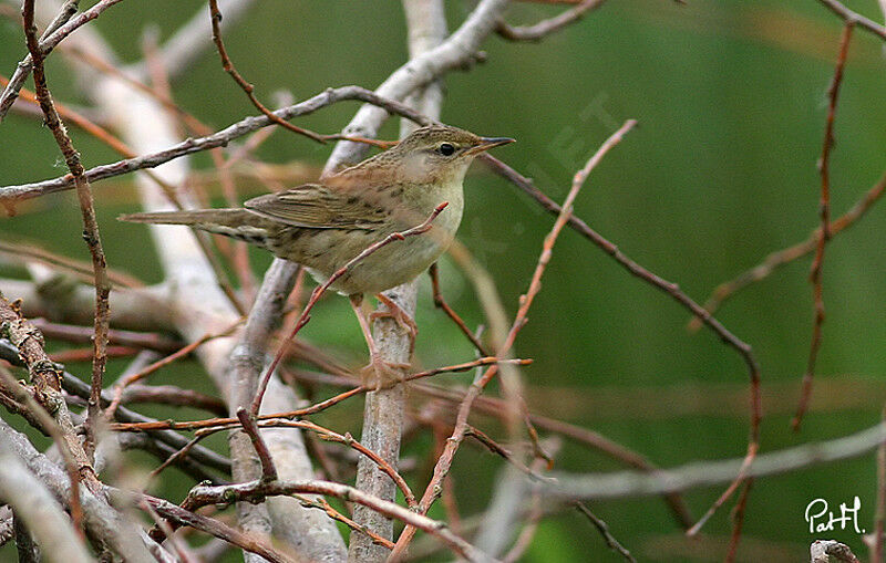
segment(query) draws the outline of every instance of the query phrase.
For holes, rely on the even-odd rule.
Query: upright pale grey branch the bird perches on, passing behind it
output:
[[[446,19],[442,0],[403,0],[403,10],[409,30],[409,53],[414,59],[441,44],[446,38]],[[419,112],[432,119],[440,118],[443,102],[442,84],[432,82],[416,91],[406,100]],[[412,126],[405,119],[401,123],[400,136],[406,136]],[[400,309],[415,316],[418,281],[412,281],[385,292]],[[383,306],[383,305],[382,305]],[[399,331],[390,319],[379,319],[373,325],[373,337],[379,353],[385,362],[409,363],[412,352],[410,336]],[[363,431],[360,440],[377,451],[388,463],[396,467],[400,458],[400,439],[403,430],[405,406],[405,385],[380,389],[367,394],[363,410]],[[361,457],[357,466],[357,489],[384,500],[393,500],[396,493],[394,482],[375,463]],[[393,521],[367,508],[358,505],[353,512],[354,521],[384,539],[393,538]],[[389,551],[375,544],[365,534],[351,536],[350,561],[385,561]]]

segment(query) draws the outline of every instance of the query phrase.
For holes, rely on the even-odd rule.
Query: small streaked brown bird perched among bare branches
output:
[[[364,378],[371,379],[374,372],[380,386],[394,366],[379,358],[361,306],[363,294],[377,294],[414,338],[412,320],[381,292],[413,280],[440,258],[462,220],[467,167],[480,153],[513,142],[429,125],[356,166],[316,184],[250,199],[241,209],[134,213],[120,219],[188,225],[244,240],[298,262],[322,283],[371,244],[420,225],[447,202],[429,231],[382,247],[331,285],[350,296],[371,358]]]

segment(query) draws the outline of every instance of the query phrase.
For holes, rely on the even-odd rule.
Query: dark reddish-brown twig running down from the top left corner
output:
[[[99,223],[95,219],[95,208],[92,201],[92,188],[85,177],[85,169],[80,161],[80,153],[74,148],[71,137],[64,128],[64,124],[59,116],[59,112],[52,102],[52,95],[47,86],[47,75],[43,70],[43,51],[37,37],[37,25],[34,25],[34,0],[24,0],[22,7],[22,25],[28,43],[28,51],[31,53],[33,64],[34,92],[40,102],[40,110],[45,117],[45,124],[52,132],[55,143],[59,145],[68,169],[76,186],[78,200],[80,202],[81,215],[83,216],[83,239],[92,256],[92,268],[95,285],[95,338],[94,356],[92,362],[92,392],[90,393],[89,408],[86,414],[86,440],[85,451],[89,457],[95,447],[95,425],[101,415],[101,394],[102,378],[107,358],[105,347],[107,346],[107,329],[110,324],[111,309],[109,295],[111,293],[111,281],[107,278],[107,263],[102,248],[102,239],[99,234]]]

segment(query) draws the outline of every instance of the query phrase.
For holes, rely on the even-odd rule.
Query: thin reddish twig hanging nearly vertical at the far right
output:
[[[803,421],[803,415],[806,413],[810,398],[812,397],[812,379],[815,375],[815,362],[818,358],[818,350],[822,345],[822,324],[824,323],[822,268],[824,265],[824,249],[827,246],[827,241],[831,240],[831,149],[834,146],[834,118],[836,117],[837,113],[839,85],[843,83],[843,70],[846,66],[846,56],[849,52],[849,42],[852,41],[852,31],[854,28],[855,21],[846,20],[846,25],[843,28],[843,34],[839,38],[839,53],[837,55],[837,62],[834,65],[834,77],[831,81],[831,86],[827,88],[827,97],[830,102],[827,105],[827,118],[824,127],[824,140],[822,142],[822,157],[818,160],[818,169],[822,175],[818,217],[821,218],[822,226],[818,229],[815,259],[812,262],[812,271],[810,273],[812,294],[815,301],[815,319],[812,325],[812,343],[810,344],[806,373],[803,374],[803,389],[800,395],[800,403],[796,407],[796,414],[794,415],[793,420],[791,420],[791,427],[794,429],[794,431],[800,430],[800,425]]]

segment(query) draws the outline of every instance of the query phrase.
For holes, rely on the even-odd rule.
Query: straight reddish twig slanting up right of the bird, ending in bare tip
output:
[[[514,317],[514,322],[511,325],[507,337],[502,343],[501,350],[497,352],[499,357],[505,355],[507,351],[511,350],[511,347],[514,345],[514,341],[517,337],[517,333],[519,333],[521,329],[526,324],[525,321],[529,312],[529,307],[532,306],[535,296],[542,289],[542,275],[545,273],[545,269],[547,268],[547,264],[553,256],[554,243],[557,241],[557,237],[568,222],[569,217],[573,215],[573,204],[575,202],[576,197],[578,197],[578,192],[584,186],[585,180],[590,171],[602,159],[602,157],[614,146],[616,146],[622,139],[622,137],[635,127],[635,125],[637,125],[636,121],[628,119],[625,125],[622,125],[617,132],[610,135],[608,139],[606,139],[606,142],[594,154],[594,156],[588,159],[585,167],[576,173],[575,178],[573,179],[573,187],[569,190],[569,194],[566,196],[566,200],[563,204],[563,208],[560,209],[556,221],[554,221],[554,227],[552,227],[550,232],[547,234],[547,237],[545,237],[545,241],[542,246],[542,253],[538,257],[538,262],[535,271],[533,272],[532,280],[529,281],[529,289],[527,290],[526,294],[521,295],[517,314]],[[467,431],[467,417],[471,414],[471,407],[473,406],[474,399],[476,399],[476,397],[483,392],[497,372],[497,366],[491,366],[488,369],[486,369],[483,376],[471,386],[467,394],[465,394],[464,400],[462,400],[462,404],[459,407],[455,429],[446,441],[446,447],[443,451],[443,455],[440,456],[436,466],[434,467],[434,475],[431,479],[431,482],[425,488],[424,494],[422,494],[420,508],[423,514],[427,512],[427,510],[431,508],[431,504],[440,494],[440,483],[449,473],[450,467],[452,467],[452,462],[455,458],[455,452],[459,450],[459,446],[461,446],[465,432]],[[410,541],[412,541],[414,535],[414,528],[406,526],[403,530],[403,532],[400,534],[400,538],[396,540],[396,546],[391,552],[391,557],[393,561],[399,561],[402,559]]]

